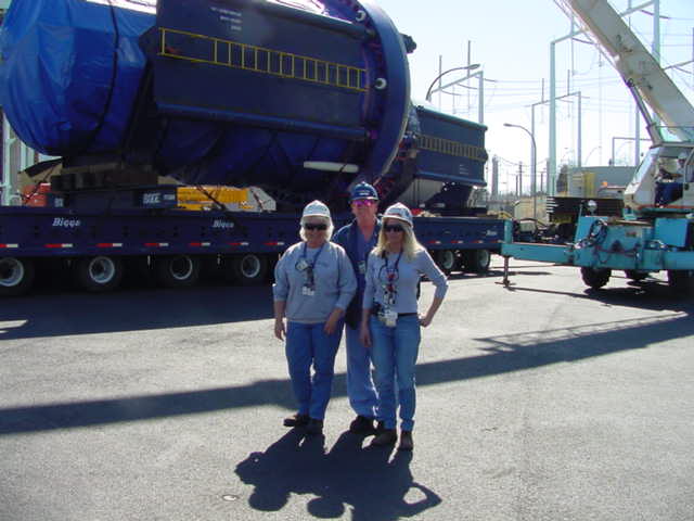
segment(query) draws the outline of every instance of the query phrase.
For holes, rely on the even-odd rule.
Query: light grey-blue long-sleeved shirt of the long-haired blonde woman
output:
[[[393,268],[398,259],[398,254],[388,254],[388,266]],[[434,296],[444,298],[448,291],[446,276],[438,269],[434,259],[426,250],[420,250],[412,260],[403,254],[398,263],[398,272],[394,281],[397,296],[395,310],[397,313],[417,313],[416,284],[422,275],[436,287]],[[386,279],[386,259],[372,252],[367,265],[367,289],[364,290],[363,308],[370,309],[374,302],[385,304],[384,284]]]

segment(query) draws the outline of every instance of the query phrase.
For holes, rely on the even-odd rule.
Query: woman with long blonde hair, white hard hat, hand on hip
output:
[[[367,267],[360,331],[362,342],[372,350],[383,419],[372,445],[391,445],[398,440],[396,404],[399,402],[401,450],[413,447],[414,366],[421,341],[420,327],[432,323],[448,289],[446,276],[417,242],[412,226],[412,213],[403,204],[396,203],[383,214],[378,243],[371,252]],[[434,283],[436,292],[427,313],[420,316],[417,284],[422,275]]]

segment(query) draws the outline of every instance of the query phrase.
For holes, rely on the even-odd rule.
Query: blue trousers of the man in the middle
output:
[[[371,379],[371,352],[359,340],[359,329],[345,326],[347,344],[347,395],[360,416],[377,418],[378,396]]]

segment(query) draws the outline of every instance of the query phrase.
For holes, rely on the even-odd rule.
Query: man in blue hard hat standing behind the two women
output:
[[[371,378],[371,352],[359,339],[359,325],[365,288],[367,258],[376,245],[381,231],[381,221],[376,215],[378,193],[368,182],[359,182],[350,191],[349,203],[355,220],[337,230],[333,237],[333,242],[347,252],[358,283],[357,294],[345,315],[347,394],[349,405],[357,414],[357,418],[349,425],[349,431],[356,434],[372,434],[375,432],[374,420],[380,420],[378,397]]]

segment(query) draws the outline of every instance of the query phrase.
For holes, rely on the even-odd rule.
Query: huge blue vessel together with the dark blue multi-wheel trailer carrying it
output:
[[[359,179],[438,209],[415,228],[444,270],[486,270],[503,221],[463,212],[486,127],[410,102],[414,47],[370,1],[14,0],[0,103],[61,158],[26,170],[60,169],[46,207],[0,207],[0,295],[57,266],[88,291],[132,271],[259,282],[298,240],[296,209],[320,199],[346,223]],[[181,209],[165,175],[261,187],[278,211]]]

